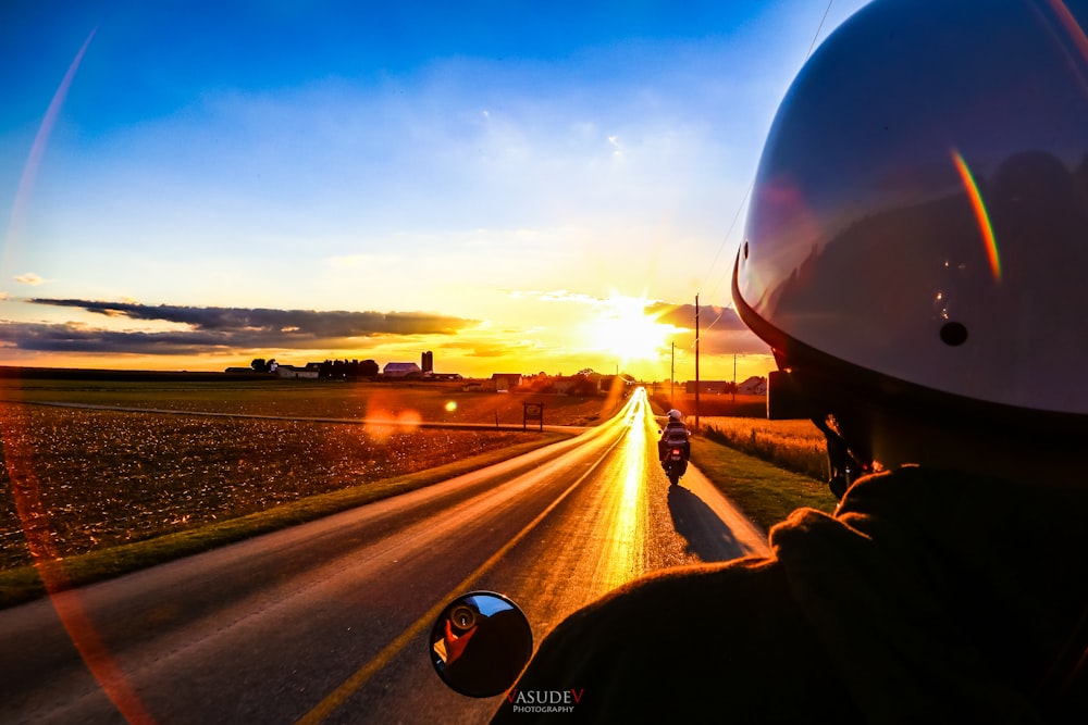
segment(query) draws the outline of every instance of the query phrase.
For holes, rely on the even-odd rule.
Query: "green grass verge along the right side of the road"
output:
[[[779,468],[705,437],[692,440],[691,460],[765,532],[802,507],[834,511],[837,501],[824,482]]]

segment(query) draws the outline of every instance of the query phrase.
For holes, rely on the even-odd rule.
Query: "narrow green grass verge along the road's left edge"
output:
[[[101,582],[260,534],[316,521],[322,516],[392,496],[407,493],[528,453],[566,437],[568,436],[565,434],[546,433],[531,442],[497,449],[426,471],[309,497],[268,511],[146,541],[70,557],[60,562],[60,565],[69,586],[76,587]],[[45,593],[46,586],[34,566],[21,566],[0,572],[0,609],[38,599]]]

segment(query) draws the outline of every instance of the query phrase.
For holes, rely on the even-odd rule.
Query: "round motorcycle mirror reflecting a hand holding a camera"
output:
[[[533,653],[529,620],[512,601],[491,591],[471,591],[446,605],[429,642],[442,682],[474,698],[509,689]]]

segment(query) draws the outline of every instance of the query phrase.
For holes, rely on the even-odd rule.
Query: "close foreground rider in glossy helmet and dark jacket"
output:
[[[516,689],[580,721],[1088,722],[1086,26],[1088,0],[875,0],[815,52],[733,300],[768,411],[818,421],[849,488],[769,558],[574,613]]]

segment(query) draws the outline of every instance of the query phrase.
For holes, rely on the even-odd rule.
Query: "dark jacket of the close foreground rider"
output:
[[[917,468],[863,478],[836,516],[771,529],[772,558],[663,572],[577,612],[495,722],[549,720],[511,704],[546,690],[580,692],[556,722],[1077,722],[1086,503]]]

